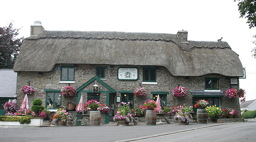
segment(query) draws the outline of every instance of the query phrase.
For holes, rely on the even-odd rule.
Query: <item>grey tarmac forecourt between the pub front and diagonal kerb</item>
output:
[[[178,125],[178,123],[162,124],[155,126],[135,126],[131,123],[129,124],[129,126],[116,126],[114,124],[73,127],[0,127],[0,142],[17,140],[19,142],[126,142],[139,139],[146,140],[150,137],[182,133],[208,127],[218,127],[220,125],[225,125],[226,127],[229,127],[230,125],[235,123],[190,123],[189,125],[184,126]]]

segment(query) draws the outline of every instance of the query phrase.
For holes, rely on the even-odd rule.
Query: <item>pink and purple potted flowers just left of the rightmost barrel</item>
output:
[[[193,107],[192,106],[184,106],[181,107],[180,110],[175,114],[173,117],[176,120],[183,121],[186,123],[190,122],[190,119],[192,119],[192,113],[193,113]]]

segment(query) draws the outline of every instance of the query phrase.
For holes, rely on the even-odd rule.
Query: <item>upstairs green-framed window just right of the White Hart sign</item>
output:
[[[156,68],[143,68],[143,82],[157,82]]]

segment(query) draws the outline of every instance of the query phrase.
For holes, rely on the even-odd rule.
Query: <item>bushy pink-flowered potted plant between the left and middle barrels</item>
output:
[[[130,102],[124,103],[122,102],[121,105],[118,104],[118,109],[116,112],[116,115],[114,115],[113,120],[125,120],[127,122],[132,121],[133,118],[133,113],[131,113],[131,109],[129,107]]]

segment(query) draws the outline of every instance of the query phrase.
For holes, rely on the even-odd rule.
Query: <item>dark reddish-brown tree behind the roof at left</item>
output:
[[[19,35],[19,29],[0,27],[0,68],[13,68],[14,61],[18,56],[22,38],[15,38]]]

